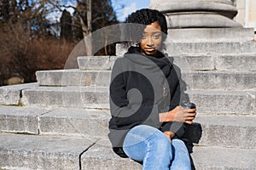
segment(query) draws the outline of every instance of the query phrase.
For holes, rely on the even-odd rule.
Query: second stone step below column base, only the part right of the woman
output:
[[[179,54],[174,64],[182,71],[256,71],[256,53],[246,54]]]

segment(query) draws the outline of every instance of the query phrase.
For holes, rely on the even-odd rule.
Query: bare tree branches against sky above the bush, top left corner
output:
[[[12,26],[20,23],[24,31],[31,34],[31,37],[38,37],[47,34],[49,21],[47,14],[52,8],[46,8],[49,0],[2,0],[0,3],[0,27]]]

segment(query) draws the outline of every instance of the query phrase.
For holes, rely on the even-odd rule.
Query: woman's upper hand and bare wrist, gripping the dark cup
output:
[[[191,124],[195,119],[196,109],[184,109],[177,106],[172,111],[160,113],[160,122],[185,122]]]

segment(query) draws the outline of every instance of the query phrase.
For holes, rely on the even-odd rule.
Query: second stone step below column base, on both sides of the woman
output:
[[[256,44],[256,43],[255,43]],[[256,46],[255,46],[256,47]],[[172,54],[174,64],[182,71],[256,71],[256,48],[253,53],[230,53],[230,54]],[[119,54],[119,56],[123,56]],[[119,56],[84,56],[78,58],[80,70],[110,70],[113,62]]]

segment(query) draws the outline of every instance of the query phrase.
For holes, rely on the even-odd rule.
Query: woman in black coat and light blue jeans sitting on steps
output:
[[[182,137],[195,109],[183,100],[180,74],[165,54],[166,18],[157,10],[140,9],[128,16],[131,47],[113,65],[108,137],[119,156],[143,162],[143,169],[191,169]]]

